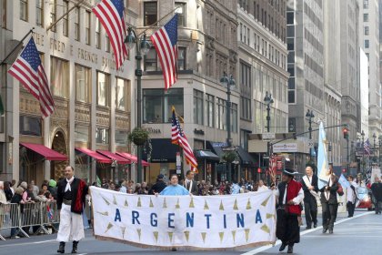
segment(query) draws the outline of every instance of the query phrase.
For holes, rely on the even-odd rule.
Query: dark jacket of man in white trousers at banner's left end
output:
[[[63,199],[66,187],[66,179],[60,180],[57,184],[57,209],[61,209],[63,206]],[[74,199],[72,200],[70,211],[81,214],[84,210],[85,196],[88,191],[88,187],[84,180],[75,178],[70,188],[73,192]]]

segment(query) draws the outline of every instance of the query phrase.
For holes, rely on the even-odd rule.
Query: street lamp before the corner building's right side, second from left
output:
[[[227,76],[226,72],[223,73],[223,76],[220,78],[220,83],[223,86],[226,86],[226,146],[228,148],[232,147],[232,138],[231,138],[231,87],[235,87],[236,82],[234,76]],[[227,162],[227,173],[226,179],[231,181],[231,162]]]

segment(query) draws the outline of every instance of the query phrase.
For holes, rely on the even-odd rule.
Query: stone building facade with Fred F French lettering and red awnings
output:
[[[95,181],[96,176],[126,178],[131,173],[130,165],[115,158],[98,160],[102,156],[95,150],[131,150],[127,135],[134,125],[131,95],[135,63],[127,60],[116,70],[105,29],[91,12],[95,1],[85,1],[67,15],[76,4],[74,1],[0,3],[0,59],[10,52],[11,47],[7,46],[15,45],[15,40],[20,41],[35,27],[35,45],[55,101],[53,115],[43,119],[35,97],[7,74],[15,56],[1,66],[5,104],[0,128],[1,179],[35,179],[40,184],[44,179],[62,177],[67,164],[75,167],[77,177],[87,181]],[[136,14],[126,7],[126,22],[134,25],[135,18]],[[130,59],[134,56],[131,53]],[[66,158],[49,158],[41,148],[47,154],[53,149]],[[83,148],[91,150],[87,154],[98,156],[87,156],[79,150]]]

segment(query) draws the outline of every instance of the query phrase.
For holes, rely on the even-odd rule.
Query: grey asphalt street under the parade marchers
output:
[[[322,234],[322,228],[301,231],[301,242],[295,245],[295,254],[382,254],[382,216],[374,212],[357,211],[355,218],[339,215],[334,234]],[[58,243],[54,235],[32,236],[29,239],[0,241],[0,254],[56,254]],[[112,241],[95,240],[92,230],[86,230],[85,240],[79,243],[79,254],[279,254],[276,246],[226,251],[160,251],[140,249]],[[71,251],[67,244],[66,253]],[[286,253],[286,252],[284,252]]]

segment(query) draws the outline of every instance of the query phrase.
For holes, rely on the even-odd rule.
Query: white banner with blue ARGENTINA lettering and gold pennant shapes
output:
[[[231,196],[139,196],[91,187],[94,233],[140,247],[225,249],[276,241],[271,190]]]

